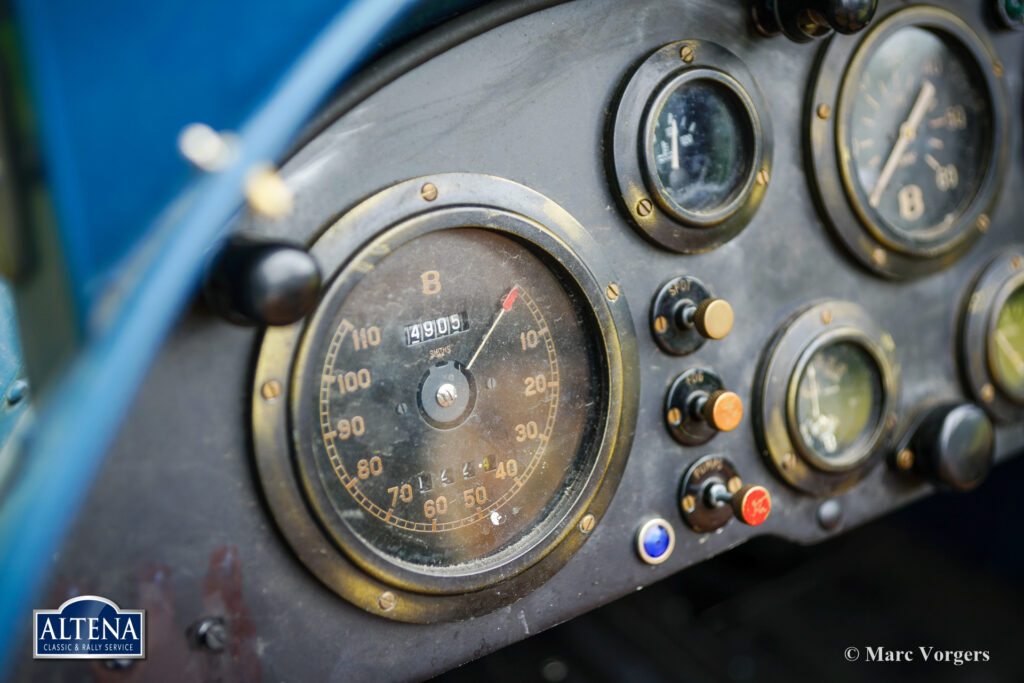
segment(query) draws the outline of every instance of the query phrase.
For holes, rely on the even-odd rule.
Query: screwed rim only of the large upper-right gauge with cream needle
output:
[[[930,243],[907,239],[874,220],[863,207],[851,178],[852,157],[845,139],[849,100],[864,61],[876,45],[906,27],[942,34],[973,59],[978,73],[983,75],[992,112],[988,168],[978,193],[953,226]],[[859,39],[834,36],[828,40],[806,106],[811,169],[808,175],[833,231],[868,269],[892,279],[935,272],[953,263],[987,231],[1008,161],[1006,93],[996,63],[994,51],[968,24],[944,9],[930,6],[896,10]]]

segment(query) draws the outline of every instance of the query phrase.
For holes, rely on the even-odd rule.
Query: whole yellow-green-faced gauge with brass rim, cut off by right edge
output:
[[[1024,419],[1024,248],[999,254],[978,275],[959,341],[961,369],[978,403],[997,420]]]

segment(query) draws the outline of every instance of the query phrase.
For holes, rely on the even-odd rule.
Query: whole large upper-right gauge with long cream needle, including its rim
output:
[[[1000,74],[978,34],[936,7],[831,40],[808,113],[812,176],[867,267],[932,272],[988,229],[1007,162]]]

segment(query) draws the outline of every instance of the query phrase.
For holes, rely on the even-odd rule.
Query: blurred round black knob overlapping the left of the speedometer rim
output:
[[[204,294],[236,325],[291,325],[315,307],[319,286],[319,267],[304,249],[240,236],[214,259]]]

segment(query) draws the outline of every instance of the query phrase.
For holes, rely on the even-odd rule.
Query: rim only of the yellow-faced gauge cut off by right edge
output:
[[[1024,396],[1007,391],[993,361],[993,329],[1011,294],[1024,287],[1024,247],[1001,252],[982,268],[961,313],[959,365],[979,405],[999,422],[1024,419]]]

